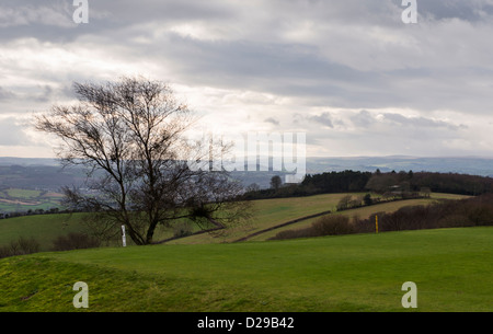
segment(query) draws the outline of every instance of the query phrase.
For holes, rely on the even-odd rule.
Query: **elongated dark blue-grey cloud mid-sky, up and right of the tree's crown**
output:
[[[389,85],[381,73],[332,62],[320,57],[310,45],[206,42],[177,35],[170,35],[165,44],[173,47],[163,49],[163,54],[180,62],[184,78],[194,83],[234,85],[282,95],[335,96],[344,101],[358,101],[365,94],[376,101],[386,93],[378,89]],[[352,84],[351,89],[343,88],[343,83]]]

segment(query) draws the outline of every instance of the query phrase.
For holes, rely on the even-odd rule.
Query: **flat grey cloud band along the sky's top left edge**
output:
[[[121,0],[89,3],[89,23],[76,24],[72,0],[2,0],[0,4],[0,41],[34,37],[39,41],[67,43],[81,36],[123,34],[129,28],[172,22],[218,20],[234,16],[231,4],[223,1]],[[130,33],[131,34],[131,33]],[[121,42],[127,43],[122,39]]]

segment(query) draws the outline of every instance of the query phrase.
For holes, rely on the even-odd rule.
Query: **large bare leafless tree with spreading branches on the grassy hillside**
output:
[[[36,128],[61,139],[57,154],[65,165],[89,169],[87,186],[96,195],[66,187],[66,203],[96,214],[93,221],[106,234],[124,224],[136,244],[149,244],[159,224],[185,218],[222,228],[246,212],[234,200],[239,183],[208,168],[213,150],[202,157],[186,140],[192,112],[168,84],[123,78],[73,87],[79,103],[53,106]],[[206,163],[192,169],[190,161]]]

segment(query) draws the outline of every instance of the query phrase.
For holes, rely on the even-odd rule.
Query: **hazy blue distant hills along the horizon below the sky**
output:
[[[375,172],[394,170],[413,172],[459,173],[480,176],[493,176],[493,159],[466,158],[419,158],[419,157],[355,157],[355,158],[307,158],[307,173],[340,172],[345,170]],[[257,184],[270,187],[271,177],[284,175],[268,172],[233,172],[232,177],[245,186]],[[62,170],[56,159],[0,157],[0,188],[15,187],[26,189],[58,191],[64,185],[80,185],[85,173],[81,169]]]

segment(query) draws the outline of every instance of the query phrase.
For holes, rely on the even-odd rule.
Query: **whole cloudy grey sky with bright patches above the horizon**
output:
[[[493,157],[493,0],[416,0],[416,23],[401,0],[82,2],[0,2],[0,157],[55,157],[34,115],[122,76],[308,157]]]

